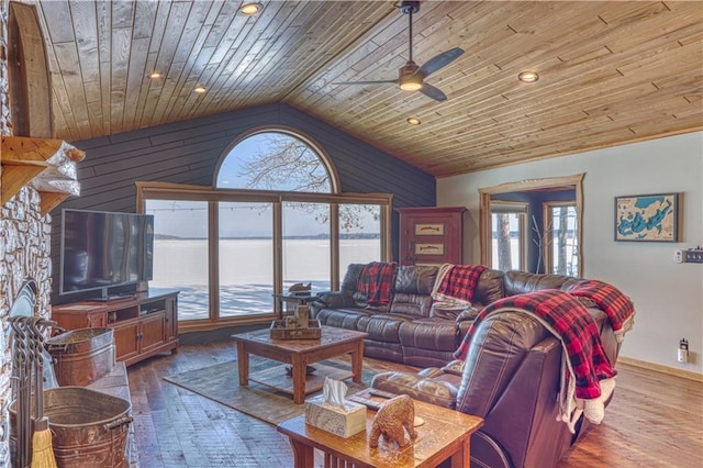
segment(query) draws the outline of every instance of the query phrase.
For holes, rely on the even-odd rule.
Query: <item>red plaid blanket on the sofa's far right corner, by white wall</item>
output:
[[[622,342],[625,333],[633,327],[635,317],[633,302],[614,286],[594,279],[584,279],[570,287],[567,292],[595,302],[610,319],[618,342]]]

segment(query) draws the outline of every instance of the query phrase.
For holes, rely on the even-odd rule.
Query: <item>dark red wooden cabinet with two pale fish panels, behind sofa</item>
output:
[[[464,263],[464,207],[397,208],[400,265]]]

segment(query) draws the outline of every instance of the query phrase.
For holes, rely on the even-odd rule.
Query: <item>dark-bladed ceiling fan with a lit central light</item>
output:
[[[434,99],[435,101],[446,101],[447,96],[438,88],[426,83],[425,78],[427,78],[429,74],[433,74],[438,69],[449,65],[461,54],[464,54],[464,51],[459,47],[455,47],[453,49],[443,52],[442,54],[435,55],[423,66],[417,66],[417,64],[413,62],[413,13],[417,13],[420,11],[420,1],[401,1],[400,3],[397,3],[397,7],[401,13],[408,14],[410,34],[409,60],[398,70],[398,79],[376,81],[338,81],[333,82],[332,85],[395,83],[403,91],[420,91],[428,98]]]

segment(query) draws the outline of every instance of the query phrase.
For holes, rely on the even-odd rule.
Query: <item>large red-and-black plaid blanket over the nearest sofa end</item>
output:
[[[576,382],[576,397],[594,399],[601,395],[600,380],[615,376],[589,311],[571,294],[556,289],[500,299],[484,308],[473,321],[459,348],[457,359],[466,359],[471,336],[491,313],[518,310],[536,316],[561,341]]]

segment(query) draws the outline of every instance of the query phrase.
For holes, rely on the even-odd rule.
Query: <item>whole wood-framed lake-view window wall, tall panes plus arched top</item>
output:
[[[297,135],[239,141],[213,180],[137,182],[155,216],[149,287],[181,291],[182,331],[270,320],[293,283],[336,289],[348,264],[391,258],[391,196],[336,193],[327,157]]]

